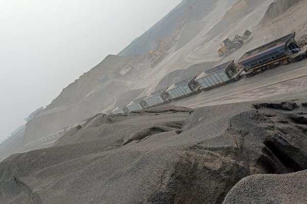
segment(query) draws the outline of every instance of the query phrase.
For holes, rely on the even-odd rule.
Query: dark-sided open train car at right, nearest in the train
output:
[[[245,75],[255,75],[278,64],[296,62],[306,57],[306,50],[295,41],[295,32],[245,53],[238,61]]]

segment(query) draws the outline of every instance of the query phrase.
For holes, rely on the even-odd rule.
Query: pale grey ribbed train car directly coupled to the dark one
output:
[[[240,79],[240,74],[237,71],[234,60],[231,60],[203,71],[195,81],[202,86],[201,89],[210,89],[238,79]]]

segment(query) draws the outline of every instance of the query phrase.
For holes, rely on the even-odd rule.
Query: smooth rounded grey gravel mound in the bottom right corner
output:
[[[252,175],[235,185],[223,203],[307,203],[306,183],[307,171]]]

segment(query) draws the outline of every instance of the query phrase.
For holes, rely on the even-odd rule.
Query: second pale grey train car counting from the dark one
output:
[[[196,75],[172,84],[166,92],[172,99],[182,98],[200,91],[200,84],[195,81]]]

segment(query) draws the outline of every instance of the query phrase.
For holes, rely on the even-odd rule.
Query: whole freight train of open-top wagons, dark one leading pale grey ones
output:
[[[297,62],[307,57],[305,46],[299,46],[295,41],[295,32],[269,42],[245,53],[237,62],[234,59],[203,71],[200,75],[193,75],[187,79],[164,87],[109,110],[108,114],[123,114],[142,109],[148,109],[177,100],[201,90],[238,81],[243,76],[251,77],[266,69],[275,68],[280,64]]]

